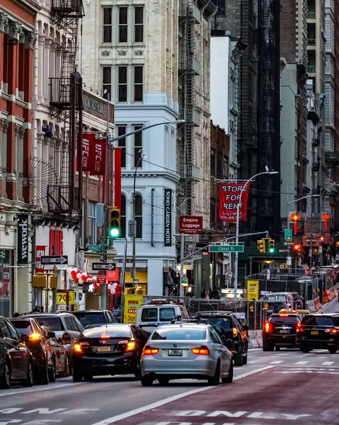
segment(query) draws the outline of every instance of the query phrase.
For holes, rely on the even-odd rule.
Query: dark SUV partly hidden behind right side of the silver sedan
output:
[[[234,365],[247,363],[248,326],[241,324],[233,312],[197,312],[197,319],[212,324],[222,340],[230,339],[233,344],[229,347],[234,356]]]

